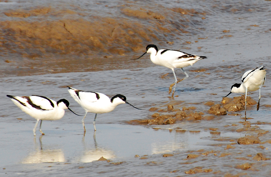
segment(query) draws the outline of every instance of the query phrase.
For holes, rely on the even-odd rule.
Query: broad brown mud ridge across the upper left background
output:
[[[42,22],[18,19],[0,22],[0,26],[5,41],[0,47],[4,50],[12,48],[25,57],[41,56],[46,52],[85,55],[108,52],[123,55],[131,50],[138,51],[139,48],[133,46],[143,40],[151,41],[148,34],[143,32],[145,30],[142,30],[145,27],[139,23],[131,24],[124,18],[116,20],[97,17],[91,21],[80,18]]]

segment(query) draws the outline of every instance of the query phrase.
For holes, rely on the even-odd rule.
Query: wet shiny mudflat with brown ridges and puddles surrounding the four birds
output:
[[[0,3],[1,176],[270,174],[269,1],[197,1],[193,8],[163,1]],[[150,43],[208,57],[184,68],[189,78],[177,84],[174,99],[170,69],[149,56],[131,60]],[[259,91],[249,93],[244,122],[243,96],[222,96],[262,65],[260,108],[253,103]],[[144,110],[119,105],[99,114],[95,133],[95,114],[88,113],[85,135],[82,117],[66,111],[43,121],[45,135],[34,137],[36,120],[6,97],[65,98],[83,115],[67,86],[122,94]]]

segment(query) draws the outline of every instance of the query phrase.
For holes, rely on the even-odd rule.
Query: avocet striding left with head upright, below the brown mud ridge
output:
[[[174,85],[174,89],[172,92],[172,98],[174,96],[176,84],[180,81],[183,81],[187,79],[189,76],[188,74],[183,70],[183,67],[187,67],[189,65],[193,66],[193,64],[201,59],[207,58],[205,56],[199,56],[199,55],[192,55],[188,54],[182,51],[178,50],[171,50],[171,49],[161,49],[158,51],[158,48],[156,45],[150,44],[146,47],[146,52],[143,53],[145,55],[146,53],[150,53],[151,61],[160,66],[165,66],[173,71],[173,75],[175,78],[175,82],[169,87],[169,93],[171,92],[171,88]],[[142,56],[143,56],[142,55]],[[141,58],[142,56],[138,57],[137,59]],[[135,60],[137,60],[135,59]],[[175,68],[182,68],[185,78],[181,79],[177,82],[177,78],[174,72]]]

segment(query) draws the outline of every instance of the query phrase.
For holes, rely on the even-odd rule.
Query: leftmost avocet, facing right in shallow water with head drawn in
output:
[[[13,101],[13,103],[16,106],[21,108],[23,112],[27,113],[29,116],[32,116],[37,120],[37,123],[33,129],[34,136],[36,136],[36,128],[39,120],[40,120],[39,131],[41,132],[42,135],[44,135],[44,133],[41,130],[43,120],[59,120],[64,116],[65,109],[72,111],[69,108],[69,102],[65,99],[61,99],[56,102],[45,96],[38,95],[32,96],[7,95],[7,96],[11,99],[11,101]]]

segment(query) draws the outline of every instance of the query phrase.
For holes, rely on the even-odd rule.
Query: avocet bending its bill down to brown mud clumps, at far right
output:
[[[247,110],[247,93],[248,91],[257,91],[259,90],[259,101],[257,104],[257,111],[259,110],[260,106],[260,99],[261,99],[261,87],[265,82],[265,75],[266,71],[264,70],[265,66],[261,66],[260,68],[256,67],[256,69],[252,69],[246,71],[242,76],[242,84],[233,84],[231,87],[231,93],[246,93],[245,96],[245,121],[247,119],[246,110]],[[229,95],[228,94],[228,95]],[[227,97],[223,96],[223,97]]]

